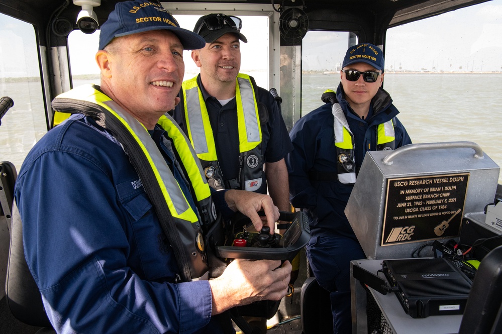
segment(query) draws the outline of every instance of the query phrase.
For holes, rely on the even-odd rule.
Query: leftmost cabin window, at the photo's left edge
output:
[[[19,171],[33,145],[47,132],[37,40],[31,24],[0,14],[0,97],[14,106],[2,117],[0,161]]]

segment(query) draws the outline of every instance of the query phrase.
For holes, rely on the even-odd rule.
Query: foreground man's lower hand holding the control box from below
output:
[[[279,260],[236,259],[223,274],[210,280],[213,315],[258,300],[280,300],[288,290],[291,264]]]

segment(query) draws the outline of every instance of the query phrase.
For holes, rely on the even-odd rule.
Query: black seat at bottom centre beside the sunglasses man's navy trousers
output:
[[[300,317],[303,334],[333,334],[330,293],[315,277],[307,278],[302,285]]]

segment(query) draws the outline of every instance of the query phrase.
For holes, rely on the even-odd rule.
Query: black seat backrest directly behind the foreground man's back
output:
[[[18,320],[32,326],[51,327],[42,296],[26,263],[23,223],[15,202],[12,207],[11,244],[5,289],[7,304]]]

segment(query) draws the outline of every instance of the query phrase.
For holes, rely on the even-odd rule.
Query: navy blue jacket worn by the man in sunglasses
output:
[[[354,135],[355,164],[359,170],[364,154],[376,150],[378,125],[394,118],[399,112],[382,88],[371,102],[367,120],[361,120],[352,111],[343,97],[341,84],[337,89],[337,100]],[[411,144],[404,126],[397,118],[394,120],[395,147]],[[312,236],[356,239],[344,213],[353,184],[342,184],[336,180],[337,154],[333,122],[331,103],[326,103],[300,119],[291,129],[289,136],[293,151],[286,158],[289,199],[294,207],[304,209],[309,216]],[[311,180],[309,171],[332,172],[335,177],[328,181]]]

